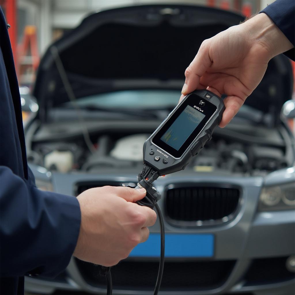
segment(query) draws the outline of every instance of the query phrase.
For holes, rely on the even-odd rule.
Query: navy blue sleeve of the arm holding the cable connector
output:
[[[40,191],[5,166],[0,179],[1,276],[57,276],[76,247],[78,200]]]

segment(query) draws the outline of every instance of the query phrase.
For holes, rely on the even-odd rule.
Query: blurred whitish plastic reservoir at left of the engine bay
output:
[[[73,167],[73,153],[54,150],[44,157],[45,168],[50,170],[54,165],[57,171],[66,173]]]

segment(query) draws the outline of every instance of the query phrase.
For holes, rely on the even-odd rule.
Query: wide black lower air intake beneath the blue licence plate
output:
[[[99,266],[75,258],[84,280],[91,286],[105,288],[106,280],[99,275]],[[234,260],[165,261],[162,291],[208,290],[221,286],[235,265]],[[114,289],[150,290],[157,279],[158,261],[122,260],[111,268]]]

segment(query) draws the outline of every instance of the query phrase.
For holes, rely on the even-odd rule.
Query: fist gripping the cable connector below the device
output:
[[[134,203],[145,194],[145,189],[113,186],[80,194],[81,226],[73,255],[103,266],[127,258],[138,243],[148,239],[148,227],[157,219],[155,211]]]

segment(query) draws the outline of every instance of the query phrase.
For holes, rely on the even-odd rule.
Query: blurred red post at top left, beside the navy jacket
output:
[[[17,68],[17,1],[16,0],[6,0],[4,1],[5,17],[6,22],[10,24],[8,30],[10,43],[12,47],[12,53],[14,58],[14,65]]]

